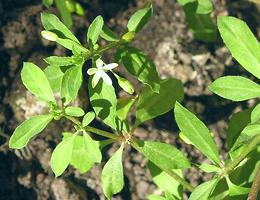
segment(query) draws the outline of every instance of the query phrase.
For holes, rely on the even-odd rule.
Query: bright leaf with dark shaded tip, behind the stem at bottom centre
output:
[[[162,171],[152,162],[148,163],[148,168],[152,175],[154,183],[162,190],[168,191],[174,194],[177,198],[182,199],[182,186],[174,178],[168,175],[166,172]],[[179,176],[182,177],[181,170],[173,170]]]

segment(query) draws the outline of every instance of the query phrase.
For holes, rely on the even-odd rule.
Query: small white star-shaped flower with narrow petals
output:
[[[110,63],[107,65],[104,65],[104,62],[101,59],[97,59],[96,61],[97,68],[90,68],[88,69],[87,73],[88,75],[93,76],[92,78],[92,87],[96,87],[98,84],[100,78],[104,80],[105,83],[108,85],[112,85],[112,80],[110,77],[106,74],[107,71],[114,69],[118,66],[117,63]]]

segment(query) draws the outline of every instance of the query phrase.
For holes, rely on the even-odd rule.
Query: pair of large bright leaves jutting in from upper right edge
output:
[[[260,45],[246,23],[234,17],[219,17],[218,28],[232,56],[258,79],[260,78]],[[240,76],[221,77],[210,85],[219,96],[243,101],[260,96],[260,86]]]

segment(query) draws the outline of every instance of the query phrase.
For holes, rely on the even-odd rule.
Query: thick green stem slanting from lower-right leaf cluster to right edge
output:
[[[233,161],[227,163],[227,165],[224,167],[224,174],[223,175],[228,175],[230,172],[232,172],[235,167],[242,161],[244,158],[251,152],[253,151],[258,145],[260,144],[260,134],[255,136],[251,142],[247,145],[246,149],[241,152],[241,154],[236,157]]]

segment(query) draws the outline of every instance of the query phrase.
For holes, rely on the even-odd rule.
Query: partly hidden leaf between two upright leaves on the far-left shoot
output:
[[[44,69],[44,73],[51,85],[52,91],[60,92],[62,78],[64,76],[64,73],[61,71],[60,67],[49,65]]]

